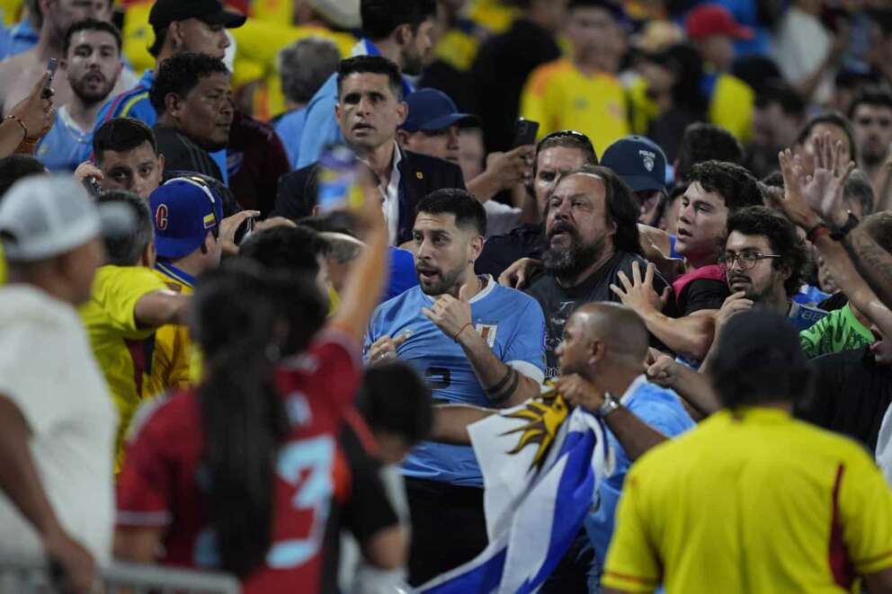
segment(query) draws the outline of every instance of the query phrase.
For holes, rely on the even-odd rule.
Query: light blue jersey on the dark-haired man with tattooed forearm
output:
[[[500,286],[492,277],[486,288],[470,300],[474,328],[504,363],[541,383],[545,378],[545,316],[534,298],[513,288]],[[488,406],[486,394],[464,350],[422,314],[433,305],[433,297],[420,287],[408,289],[381,304],[366,333],[364,354],[382,336],[411,332],[397,349],[397,357],[412,365],[433,391],[435,403],[466,403]],[[467,332],[467,331],[466,331]],[[406,476],[464,486],[483,486],[474,450],[424,441],[406,457]]]

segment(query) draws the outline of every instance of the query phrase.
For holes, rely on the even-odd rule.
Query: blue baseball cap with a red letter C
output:
[[[149,197],[158,257],[177,260],[204,244],[210,232],[219,235],[223,200],[201,178],[177,177]]]

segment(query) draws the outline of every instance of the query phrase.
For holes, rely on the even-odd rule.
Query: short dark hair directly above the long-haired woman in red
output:
[[[238,248],[238,255],[272,270],[319,271],[319,256],[328,253],[326,240],[306,226],[276,226],[249,235]]]

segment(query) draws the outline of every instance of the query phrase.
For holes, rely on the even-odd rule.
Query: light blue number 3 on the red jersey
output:
[[[335,441],[327,436],[302,439],[282,448],[276,463],[276,473],[281,480],[296,487],[291,500],[295,510],[310,510],[313,519],[306,537],[287,538],[272,543],[266,557],[266,563],[270,567],[297,567],[317,554],[325,537],[328,510],[334,491],[334,463]]]

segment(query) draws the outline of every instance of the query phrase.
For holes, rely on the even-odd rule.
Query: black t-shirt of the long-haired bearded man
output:
[[[632,278],[632,262],[638,262],[642,271],[647,269],[647,260],[641,256],[617,252],[588,279],[575,287],[561,287],[552,274],[543,274],[532,282],[526,292],[539,301],[545,314],[545,358],[548,365],[546,377],[559,375],[555,349],[564,336],[564,325],[570,315],[576,307],[592,301],[620,301],[620,298],[611,291],[611,284],[622,287],[619,279],[620,271],[625,272],[629,279]],[[667,285],[665,279],[658,272],[655,273],[654,289],[658,295],[663,293]]]

